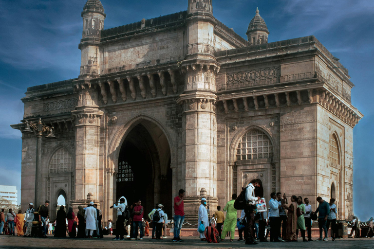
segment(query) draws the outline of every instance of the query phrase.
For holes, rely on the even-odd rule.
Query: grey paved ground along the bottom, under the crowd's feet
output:
[[[208,244],[200,241],[197,237],[183,238],[184,242],[172,242],[171,239],[152,240],[145,237],[143,241],[113,241],[114,236],[105,236],[103,239],[57,239],[50,235],[48,238],[23,238],[17,236],[0,236],[0,249],[236,249],[236,248],[298,248],[298,249],[373,249],[373,238],[359,238],[359,239],[337,239],[335,242],[331,241],[310,241],[302,242],[299,239],[298,243],[295,242],[262,242],[254,246],[244,245],[243,241],[229,242],[224,241],[219,244]]]

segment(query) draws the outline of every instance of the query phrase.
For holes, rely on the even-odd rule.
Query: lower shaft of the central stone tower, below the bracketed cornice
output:
[[[212,93],[197,92],[182,94],[177,99],[183,108],[181,168],[188,221],[197,220],[196,211],[202,188],[206,190],[208,205],[213,208],[218,203],[216,98]]]

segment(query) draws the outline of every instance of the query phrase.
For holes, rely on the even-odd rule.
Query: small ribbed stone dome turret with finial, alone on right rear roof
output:
[[[267,43],[269,30],[267,29],[266,23],[259,13],[259,8],[257,8],[256,15],[254,18],[252,18],[248,25],[247,33],[245,33],[251,45]]]

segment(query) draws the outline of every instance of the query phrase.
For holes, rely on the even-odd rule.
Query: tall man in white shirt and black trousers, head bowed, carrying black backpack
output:
[[[246,187],[245,190],[245,200],[247,201],[247,205],[244,209],[245,216],[247,217],[247,223],[245,225],[244,230],[244,237],[245,237],[245,244],[246,245],[256,245],[258,244],[255,242],[254,236],[254,225],[255,225],[255,213],[254,210],[256,209],[256,201],[261,199],[260,196],[255,197],[255,191],[258,191],[261,188],[261,180],[260,179],[253,179]]]

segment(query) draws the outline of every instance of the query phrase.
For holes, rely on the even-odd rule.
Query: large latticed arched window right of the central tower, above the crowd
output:
[[[236,149],[236,160],[273,158],[273,144],[260,130],[252,129],[244,134]]]

